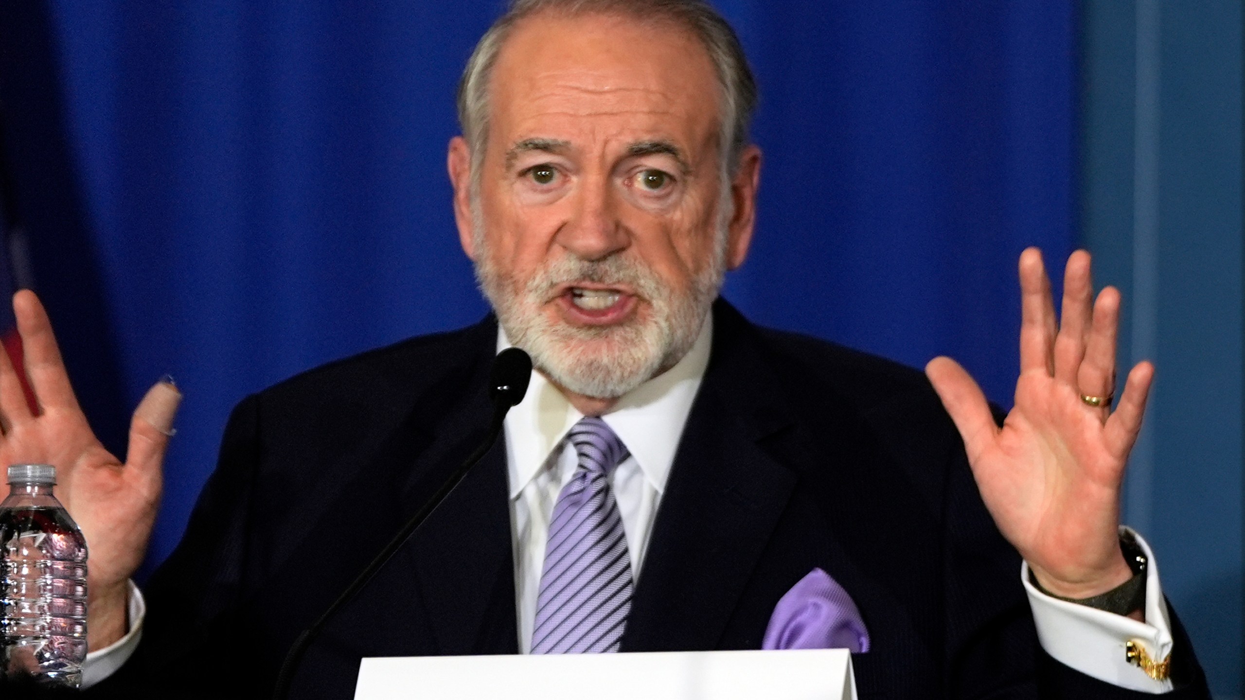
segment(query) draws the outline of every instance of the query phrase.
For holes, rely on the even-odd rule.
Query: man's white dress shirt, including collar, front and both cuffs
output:
[[[675,451],[708,366],[711,339],[710,318],[691,351],[677,365],[624,396],[601,416],[631,453],[610,475],[610,486],[622,516],[636,582]],[[498,333],[497,346],[498,350],[509,346],[504,333]],[[549,518],[558,493],[578,465],[575,448],[565,436],[581,417],[583,414],[537,371],[532,372],[523,401],[505,417],[518,641],[524,654],[532,646]],[[1137,542],[1149,557],[1144,623],[1051,598],[1028,583],[1027,564],[1021,565],[1021,580],[1033,612],[1038,641],[1047,654],[1106,683],[1158,694],[1172,690],[1172,683],[1152,680],[1124,656],[1124,646],[1130,640],[1144,644],[1154,659],[1164,659],[1172,651],[1158,564],[1149,546],[1140,537]],[[129,631],[116,644],[87,655],[83,688],[103,680],[126,663],[138,645],[144,613],[142,593],[131,585]]]

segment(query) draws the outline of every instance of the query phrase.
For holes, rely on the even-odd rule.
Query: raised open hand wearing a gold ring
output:
[[[1109,401],[1091,406],[1083,396],[1111,397],[1116,387],[1119,291],[1108,286],[1094,300],[1084,250],[1068,258],[1061,323],[1036,248],[1021,254],[1020,281],[1021,371],[1001,428],[955,360],[935,357],[925,372],[1003,537],[1043,588],[1089,598],[1133,575],[1119,547],[1119,491],[1154,366],[1132,369],[1114,411]]]

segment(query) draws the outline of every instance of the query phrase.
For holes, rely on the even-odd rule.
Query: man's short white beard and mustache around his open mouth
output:
[[[474,207],[476,280],[507,338],[532,355],[532,364],[554,384],[594,399],[618,399],[675,366],[696,343],[726,272],[725,222],[710,264],[686,290],[667,286],[625,252],[600,260],[566,253],[522,284],[494,264],[483,232],[483,217]],[[613,326],[550,321],[544,304],[554,298],[558,285],[575,281],[627,285],[647,301],[649,314]]]

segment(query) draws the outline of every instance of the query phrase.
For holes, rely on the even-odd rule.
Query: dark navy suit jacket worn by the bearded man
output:
[[[757,649],[814,567],[873,648],[862,698],[1124,698],[1046,656],[1020,558],[925,376],[713,309],[626,651]],[[142,644],[88,695],[265,698],[281,656],[484,437],[496,321],[341,360],[244,400]],[[1178,629],[1178,698],[1208,698]],[[346,699],[362,656],[514,654],[504,441],[324,629],[293,698]]]

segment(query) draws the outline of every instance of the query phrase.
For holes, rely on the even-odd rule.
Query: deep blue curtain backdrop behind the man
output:
[[[90,224],[75,264],[98,270],[95,306],[54,321],[106,326],[96,360],[126,405],[164,372],[187,397],[151,565],[238,400],[486,311],[443,163],[499,2],[47,5]],[[766,152],[727,298],[911,365],[951,354],[1010,404],[1016,257],[1038,244],[1061,268],[1074,238],[1072,5],[722,1]],[[123,433],[123,412],[91,417]]]

